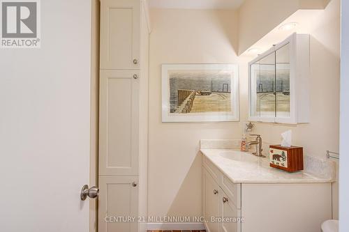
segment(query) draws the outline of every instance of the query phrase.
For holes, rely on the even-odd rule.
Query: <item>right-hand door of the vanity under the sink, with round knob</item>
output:
[[[228,195],[220,189],[220,204],[221,204],[221,232],[240,232],[241,223],[239,219],[241,217],[241,211],[232,203]]]

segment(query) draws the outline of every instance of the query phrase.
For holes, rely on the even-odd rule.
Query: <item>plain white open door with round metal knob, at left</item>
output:
[[[41,48],[0,49],[0,231],[89,231],[91,1],[40,1]]]

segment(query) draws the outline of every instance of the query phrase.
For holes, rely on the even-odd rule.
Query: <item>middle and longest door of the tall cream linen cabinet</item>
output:
[[[138,175],[139,73],[101,70],[99,174]]]

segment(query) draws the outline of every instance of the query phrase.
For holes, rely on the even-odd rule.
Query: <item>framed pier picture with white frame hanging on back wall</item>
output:
[[[163,64],[163,122],[239,121],[235,64]]]

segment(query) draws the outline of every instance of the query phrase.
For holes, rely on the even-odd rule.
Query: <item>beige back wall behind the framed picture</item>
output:
[[[231,10],[151,10],[149,215],[201,214],[200,139],[240,137],[239,123],[161,123],[162,63],[239,63]],[[247,89],[246,84],[241,89]],[[246,114],[246,104],[241,114]]]

